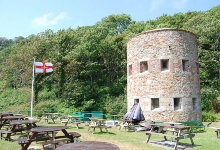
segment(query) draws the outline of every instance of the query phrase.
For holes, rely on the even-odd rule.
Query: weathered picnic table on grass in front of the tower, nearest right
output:
[[[155,127],[159,127],[157,132],[154,132]],[[151,130],[146,132],[148,135],[147,142],[149,142],[151,135],[159,135],[163,136],[165,141],[167,141],[167,137],[174,138],[176,140],[174,149],[177,149],[177,145],[180,139],[190,138],[192,145],[194,145],[193,137],[195,134],[190,132],[190,126],[183,126],[183,125],[170,125],[170,124],[151,124]],[[173,130],[167,130],[173,129]],[[173,134],[168,134],[167,132],[171,131]],[[176,133],[176,135],[174,135]]]

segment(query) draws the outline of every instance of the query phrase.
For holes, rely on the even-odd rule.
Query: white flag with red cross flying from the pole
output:
[[[53,64],[48,62],[34,62],[35,73],[48,73],[53,71]]]

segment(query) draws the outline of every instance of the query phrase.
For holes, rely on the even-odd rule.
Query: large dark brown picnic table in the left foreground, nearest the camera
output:
[[[38,138],[37,139],[38,134],[47,133],[48,135],[51,134],[51,138],[49,141],[43,142],[42,145],[52,144],[53,148],[55,149],[56,145],[59,142],[63,142],[63,141],[67,141],[67,140],[69,140],[70,142],[73,142],[74,137],[72,134],[69,134],[66,131],[66,128],[67,128],[66,126],[42,126],[42,127],[32,128],[32,129],[30,129],[30,132],[32,132],[32,135],[30,136],[30,138],[25,139],[23,141],[19,141],[19,144],[21,144],[22,150],[27,150],[28,147],[31,145],[31,143],[36,140],[38,140],[38,141],[48,140],[48,138],[47,139],[45,139],[45,138],[42,138],[42,139]],[[56,136],[57,131],[62,131],[63,135]],[[67,138],[67,140],[63,139],[63,138]],[[57,140],[57,139],[62,139],[62,140]]]

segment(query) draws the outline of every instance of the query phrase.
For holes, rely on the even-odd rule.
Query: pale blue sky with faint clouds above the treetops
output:
[[[207,11],[219,0],[0,0],[0,37],[90,26],[112,14],[147,21],[163,14]]]

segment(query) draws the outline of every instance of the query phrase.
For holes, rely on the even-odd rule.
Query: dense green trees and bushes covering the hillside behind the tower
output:
[[[52,73],[35,74],[35,109],[41,109],[45,103],[53,106],[47,111],[65,108],[123,114],[127,111],[127,40],[151,29],[176,28],[196,34],[202,109],[219,112],[219,19],[220,6],[206,12],[163,15],[146,22],[136,22],[129,15],[120,14],[103,18],[93,26],[69,28],[56,33],[46,30],[13,41],[1,38],[0,92],[3,96],[0,96],[0,109],[30,101],[30,96],[23,96],[23,99],[17,101],[15,97],[7,97],[6,101],[5,93],[13,89],[29,89],[30,92],[35,58],[36,61],[52,62],[54,65]],[[27,108],[23,105],[23,108]]]

